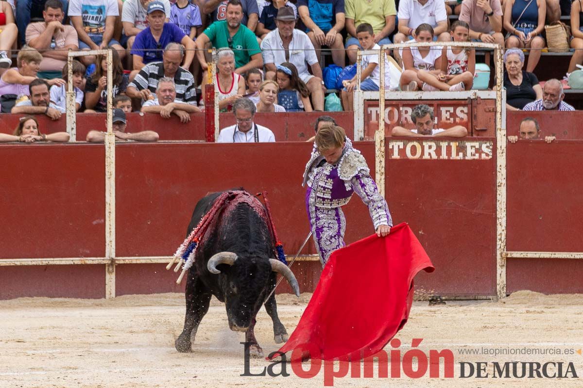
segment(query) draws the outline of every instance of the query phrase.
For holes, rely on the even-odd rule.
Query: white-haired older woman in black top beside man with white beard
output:
[[[524,53],[519,49],[508,49],[504,53],[504,88],[506,109],[519,111],[529,102],[543,98],[543,90],[535,74],[522,70]]]

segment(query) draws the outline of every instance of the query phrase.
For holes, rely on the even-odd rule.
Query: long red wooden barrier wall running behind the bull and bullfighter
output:
[[[582,144],[508,145],[508,250],[583,250],[583,181],[573,169],[583,163]],[[374,144],[356,147],[372,167]],[[0,148],[2,258],[102,257],[104,146]],[[171,255],[185,237],[196,201],[209,191],[238,186],[252,193],[268,191],[286,253],[295,254],[308,233],[300,185],[310,150],[311,144],[300,142],[118,145],[117,256]],[[436,272],[417,277],[418,289],[448,296],[495,294],[495,172],[494,158],[387,160],[385,190],[394,222],[409,222],[436,265]],[[345,210],[347,243],[373,233],[358,198]],[[304,253],[313,252],[310,241]],[[577,280],[583,275],[582,263],[509,259],[508,290],[583,292]],[[313,290],[318,262],[294,266],[301,289]],[[181,290],[174,284],[175,275],[164,265],[118,265],[117,293]],[[103,297],[104,265],[0,267],[0,283],[0,298]]]

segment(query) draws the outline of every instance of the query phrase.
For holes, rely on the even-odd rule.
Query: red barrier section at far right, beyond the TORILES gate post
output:
[[[583,141],[508,144],[508,251],[583,252]],[[582,293],[583,260],[508,259],[508,291]]]

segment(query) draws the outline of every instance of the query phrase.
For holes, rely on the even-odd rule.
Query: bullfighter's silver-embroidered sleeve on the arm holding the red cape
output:
[[[367,205],[370,218],[373,220],[374,230],[377,230],[380,225],[393,226],[387,201],[378,193],[377,184],[374,183],[373,178],[368,175],[366,170],[360,170],[350,180],[350,184],[364,204]]]

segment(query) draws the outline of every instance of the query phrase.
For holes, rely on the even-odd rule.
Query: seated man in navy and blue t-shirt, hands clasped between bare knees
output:
[[[340,34],[345,23],[344,2],[342,0],[299,0],[298,12],[301,21],[308,29],[308,37],[316,49],[316,56],[320,58],[320,49],[326,46],[331,49],[334,64],[344,67],[346,54]]]

